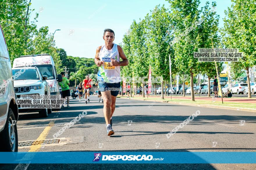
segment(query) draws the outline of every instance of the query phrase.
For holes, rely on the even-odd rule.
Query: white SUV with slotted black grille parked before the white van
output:
[[[17,95],[17,98],[20,98],[20,95],[47,95],[50,94],[50,86],[48,85],[46,79],[47,76],[42,76],[40,70],[37,67],[18,67],[13,68],[13,75],[20,74],[15,80],[14,83],[14,92]],[[51,113],[51,108],[44,109],[27,109],[19,106],[20,112],[35,112],[39,111],[40,117],[47,117],[48,113]]]

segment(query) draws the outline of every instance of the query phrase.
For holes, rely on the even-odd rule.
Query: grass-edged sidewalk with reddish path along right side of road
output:
[[[120,98],[127,98],[127,95],[123,97],[118,95]],[[256,113],[256,99],[255,98],[223,98],[223,104],[221,98],[214,97],[195,97],[195,101],[191,100],[191,97],[186,96],[142,96],[133,95],[129,99],[134,100],[146,100],[152,102],[165,102],[179,105],[189,105],[189,106],[199,106],[199,107],[209,107],[209,108],[219,108],[219,109],[230,109],[230,110],[241,110],[241,111],[251,111]]]

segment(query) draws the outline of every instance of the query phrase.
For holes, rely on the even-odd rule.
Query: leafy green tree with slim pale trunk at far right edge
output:
[[[225,11],[223,43],[227,48],[237,48],[243,52],[238,63],[231,65],[246,70],[248,98],[250,93],[249,67],[256,64],[256,3],[254,0],[231,0],[232,5]],[[240,69],[241,70],[241,69]]]

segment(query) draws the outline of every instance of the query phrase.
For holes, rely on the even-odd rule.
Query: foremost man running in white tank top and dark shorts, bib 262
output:
[[[120,66],[128,65],[128,60],[120,45],[113,43],[115,33],[111,29],[105,29],[103,34],[105,44],[96,50],[95,64],[99,67],[99,90],[104,101],[104,117],[106,121],[107,135],[113,135],[112,116],[115,111],[115,100],[120,89]],[[120,58],[122,61],[120,61]]]

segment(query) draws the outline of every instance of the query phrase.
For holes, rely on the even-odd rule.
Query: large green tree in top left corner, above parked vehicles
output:
[[[0,24],[5,35],[11,62],[15,58],[25,54],[36,31],[35,22],[38,14],[30,22],[29,16],[33,10],[28,11],[26,18],[27,7],[29,5],[26,0],[0,1]]]

